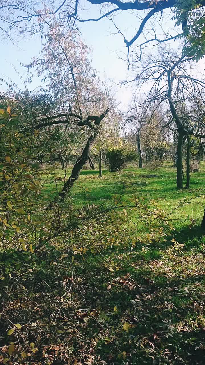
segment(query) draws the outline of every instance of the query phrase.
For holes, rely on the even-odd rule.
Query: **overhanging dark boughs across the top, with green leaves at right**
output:
[[[184,53],[199,59],[205,52],[205,0],[138,0],[134,2],[120,0],[86,0],[99,8],[97,18],[85,18],[84,9],[87,3],[80,0],[59,1],[45,0],[44,6],[38,0],[1,1],[0,30],[4,37],[15,41],[18,33],[47,32],[47,26],[60,22],[65,29],[76,28],[79,22],[98,22],[105,17],[115,24],[116,15],[120,12],[132,12],[139,23],[131,39],[124,37],[125,45],[134,47],[134,58],[139,60],[147,46],[157,46],[162,42],[184,39]],[[87,13],[87,9],[86,9]],[[165,30],[167,16],[174,25],[181,28],[180,32]],[[140,19],[140,21],[139,21]],[[159,32],[159,24],[162,31]],[[124,26],[124,24],[123,24]],[[134,28],[136,27],[136,22]],[[121,26],[116,27],[118,32]],[[145,36],[144,34],[149,34]],[[162,36],[163,34],[163,36]],[[138,41],[139,40],[139,41]]]

